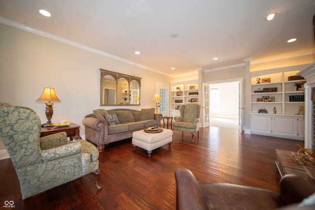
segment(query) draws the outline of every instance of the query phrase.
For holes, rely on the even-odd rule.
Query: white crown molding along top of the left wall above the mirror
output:
[[[8,25],[8,26],[12,26],[12,27],[17,28],[17,29],[26,30],[28,32],[31,32],[31,33],[34,33],[34,34],[37,34],[37,35],[40,35],[40,36],[44,36],[46,38],[50,38],[50,39],[53,39],[53,40],[56,40],[56,41],[59,41],[59,42],[63,42],[65,44],[69,44],[69,45],[72,45],[74,47],[78,47],[78,48],[81,48],[83,50],[87,50],[87,51],[90,51],[92,53],[96,53],[98,55],[105,56],[107,58],[111,58],[111,59],[114,59],[114,60],[119,60],[119,61],[131,64],[131,65],[134,65],[134,66],[146,69],[146,70],[150,70],[150,71],[154,71],[154,72],[159,73],[159,74],[166,75],[168,77],[173,77],[173,76],[171,76],[169,74],[166,74],[164,72],[158,71],[156,69],[153,69],[153,68],[141,65],[139,63],[132,62],[130,60],[126,60],[126,59],[114,56],[112,54],[109,54],[109,53],[106,53],[106,52],[103,52],[103,51],[100,51],[100,50],[96,50],[95,48],[92,48],[92,47],[89,47],[89,46],[86,46],[86,45],[83,45],[83,44],[79,44],[77,42],[71,41],[69,39],[65,39],[63,37],[60,37],[60,36],[57,36],[57,35],[54,35],[54,34],[51,34],[51,33],[45,32],[45,31],[42,31],[42,30],[37,30],[37,29],[31,28],[31,27],[25,26],[23,24],[20,24],[20,23],[8,20],[6,18],[0,17],[0,23],[3,23],[3,24]]]

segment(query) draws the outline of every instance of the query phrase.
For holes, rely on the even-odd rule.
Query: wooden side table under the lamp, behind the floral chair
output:
[[[48,136],[54,133],[60,133],[60,132],[66,132],[67,137],[70,137],[70,140],[72,141],[73,139],[81,139],[80,136],[80,125],[77,125],[73,122],[69,124],[68,126],[64,127],[41,127],[40,128],[40,137]]]

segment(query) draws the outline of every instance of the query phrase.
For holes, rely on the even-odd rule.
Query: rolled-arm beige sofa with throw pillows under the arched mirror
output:
[[[109,143],[132,138],[133,131],[150,126],[160,127],[162,118],[161,114],[155,114],[155,108],[141,111],[97,109],[85,116],[82,123],[85,126],[86,140],[93,143],[99,151],[103,151]]]

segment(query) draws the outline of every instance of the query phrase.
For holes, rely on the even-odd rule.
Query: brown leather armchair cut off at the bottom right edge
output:
[[[185,168],[175,170],[175,179],[177,210],[272,210],[283,206],[287,210],[315,209],[315,203],[300,203],[315,197],[315,179],[307,174],[285,175],[280,181],[280,194],[236,184],[197,182]]]

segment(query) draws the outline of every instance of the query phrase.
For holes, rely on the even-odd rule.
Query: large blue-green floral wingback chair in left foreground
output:
[[[101,189],[94,145],[69,142],[65,132],[39,136],[40,119],[33,110],[0,102],[0,139],[18,175],[22,199],[91,172],[97,174]]]

